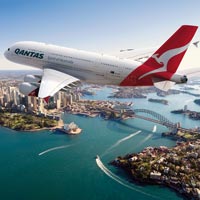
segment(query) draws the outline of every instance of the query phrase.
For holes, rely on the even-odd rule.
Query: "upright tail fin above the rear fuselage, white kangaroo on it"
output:
[[[150,74],[169,72],[171,75],[176,72],[178,66],[187,51],[197,26],[181,26],[142,66],[146,66],[146,73],[138,77],[142,79]],[[166,78],[170,78],[166,73]]]

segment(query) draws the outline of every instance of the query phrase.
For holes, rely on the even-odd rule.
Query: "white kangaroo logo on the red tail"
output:
[[[163,66],[158,68],[158,69],[154,69],[150,72],[147,72],[147,73],[141,75],[138,79],[140,80],[141,78],[144,78],[145,76],[147,76],[149,74],[153,74],[153,73],[157,73],[157,72],[167,72],[167,65],[168,65],[169,60],[172,57],[182,53],[185,50],[187,50],[188,46],[189,46],[189,43],[186,44],[183,47],[170,49],[170,50],[164,52],[162,55],[160,55],[160,57],[158,57],[159,56],[158,54],[153,54],[151,57],[154,58],[157,63],[162,64]]]

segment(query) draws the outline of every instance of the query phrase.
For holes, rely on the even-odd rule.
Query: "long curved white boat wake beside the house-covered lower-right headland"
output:
[[[143,192],[142,190],[139,190],[139,189],[137,189],[137,188],[134,188],[134,187],[132,187],[132,186],[130,186],[130,185],[124,183],[123,180],[122,180],[119,176],[117,176],[117,175],[115,175],[114,173],[112,173],[112,172],[101,162],[101,159],[100,159],[99,156],[97,156],[97,158],[96,158],[96,163],[97,163],[98,167],[99,167],[107,176],[109,176],[111,179],[115,180],[115,181],[118,182],[119,184],[123,185],[124,187],[129,188],[129,189],[134,190],[134,191],[137,191],[137,192],[140,192],[140,193],[145,194],[145,195],[147,195],[147,196],[153,197],[153,198],[155,198],[155,199],[159,199],[159,198],[157,198],[157,197],[155,197],[155,196],[153,196],[153,195],[151,195],[151,194],[148,194],[148,193],[146,193],[146,192]]]

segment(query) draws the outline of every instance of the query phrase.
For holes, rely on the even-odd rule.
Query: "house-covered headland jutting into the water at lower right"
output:
[[[200,140],[179,142],[174,148],[147,147],[111,162],[134,181],[170,187],[188,199],[200,199]]]

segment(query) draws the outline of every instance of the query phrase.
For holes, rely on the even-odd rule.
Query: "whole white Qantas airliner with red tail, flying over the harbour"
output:
[[[168,90],[186,83],[187,77],[175,74],[197,30],[181,26],[144,63],[113,56],[80,51],[38,42],[17,42],[5,52],[15,63],[43,69],[43,75],[26,75],[19,86],[21,93],[48,102],[61,89],[78,82],[118,86],[152,86]]]

